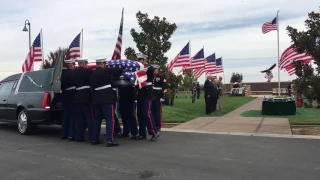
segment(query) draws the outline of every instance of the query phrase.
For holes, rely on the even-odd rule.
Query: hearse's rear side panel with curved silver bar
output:
[[[23,75],[18,92],[51,91],[52,70],[28,72]]]

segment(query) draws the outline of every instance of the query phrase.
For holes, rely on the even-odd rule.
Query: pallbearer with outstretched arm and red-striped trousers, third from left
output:
[[[115,103],[116,97],[111,87],[112,76],[120,76],[121,68],[106,68],[106,59],[97,59],[97,68],[91,76],[93,89],[93,105],[95,113],[92,144],[100,144],[101,121],[106,121],[107,146],[119,146],[114,141]]]

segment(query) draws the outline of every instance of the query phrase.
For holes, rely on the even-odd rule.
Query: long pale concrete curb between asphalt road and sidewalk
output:
[[[217,134],[217,135],[234,135],[234,136],[256,136],[256,137],[277,137],[277,138],[296,138],[296,139],[320,139],[320,136],[310,135],[284,135],[284,134],[258,134],[258,133],[241,133],[241,132],[211,132],[193,129],[174,129],[163,128],[161,131],[168,132],[188,132],[188,133],[202,133],[202,134]]]

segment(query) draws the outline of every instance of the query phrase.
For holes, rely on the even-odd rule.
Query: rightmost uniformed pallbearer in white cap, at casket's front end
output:
[[[155,69],[159,70],[159,65],[151,65]],[[161,130],[162,125],[162,102],[164,98],[164,91],[166,79],[163,75],[155,74],[153,79],[153,90],[155,94],[155,99],[152,101],[152,116],[154,118],[155,126],[158,131]]]

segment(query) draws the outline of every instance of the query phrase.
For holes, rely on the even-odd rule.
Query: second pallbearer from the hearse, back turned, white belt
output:
[[[76,141],[84,141],[85,124],[88,125],[88,138],[92,141],[92,125],[94,121],[92,95],[90,87],[91,69],[88,69],[88,59],[76,59],[79,68],[75,70],[72,81],[76,87],[73,99],[76,108]],[[87,121],[87,123],[86,123]]]

